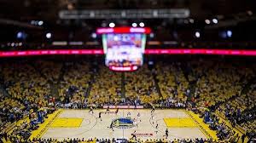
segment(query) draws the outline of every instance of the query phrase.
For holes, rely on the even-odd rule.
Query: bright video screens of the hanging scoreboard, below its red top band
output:
[[[136,71],[143,65],[146,36],[142,33],[102,35],[105,64],[113,71]]]

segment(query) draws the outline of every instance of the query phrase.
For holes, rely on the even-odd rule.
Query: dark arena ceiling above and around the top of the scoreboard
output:
[[[174,16],[157,19],[125,18],[128,13],[123,15],[124,18],[114,18],[110,13],[97,19],[82,16],[65,19],[60,16],[63,11],[82,15],[85,10],[90,16],[94,10],[105,10],[102,14],[106,14],[106,10],[123,14],[124,10],[143,12],[148,9],[153,16],[159,16],[160,13],[154,11],[161,9],[172,10]],[[187,9],[189,14],[185,12],[188,15],[177,16],[173,9]],[[0,42],[48,43],[45,34],[49,32],[52,34],[50,42],[88,42],[98,40],[91,37],[96,27],[108,26],[111,22],[115,26],[143,22],[154,31],[152,41],[253,43],[256,41],[255,9],[254,0],[1,0]],[[17,39],[19,32],[24,33],[21,40]],[[196,32],[200,32],[200,38],[196,38]]]

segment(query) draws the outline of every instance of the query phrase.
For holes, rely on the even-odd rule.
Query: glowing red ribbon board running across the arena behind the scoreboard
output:
[[[55,54],[104,54],[103,49],[44,49],[0,51],[0,57],[55,55]],[[243,49],[145,49],[144,54],[215,54],[255,56],[256,50]]]

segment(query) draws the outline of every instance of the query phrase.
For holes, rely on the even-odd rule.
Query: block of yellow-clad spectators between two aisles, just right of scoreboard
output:
[[[160,105],[172,108],[184,108],[190,94],[189,82],[183,74],[180,63],[162,63],[156,65],[156,74],[162,102]]]

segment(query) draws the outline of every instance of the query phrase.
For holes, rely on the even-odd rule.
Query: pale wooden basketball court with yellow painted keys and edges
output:
[[[115,109],[106,112],[106,109],[95,110],[61,110],[55,117],[46,121],[42,131],[35,132],[32,136],[44,139],[54,138],[64,140],[67,138],[98,138],[98,139],[130,139],[132,133],[137,139],[166,139],[166,129],[169,131],[168,140],[172,139],[195,139],[212,138],[214,134],[207,133],[207,125],[201,124],[196,115],[185,110],[155,110],[149,109],[120,109],[116,114]],[[98,117],[102,112],[102,121]],[[140,116],[138,117],[138,113]],[[121,123],[122,120],[131,120],[131,123]],[[114,122],[113,122],[114,121]],[[113,130],[111,123],[116,123]],[[40,127],[41,128],[41,127]],[[39,128],[39,129],[40,129]],[[215,134],[216,135],[216,134]]]

